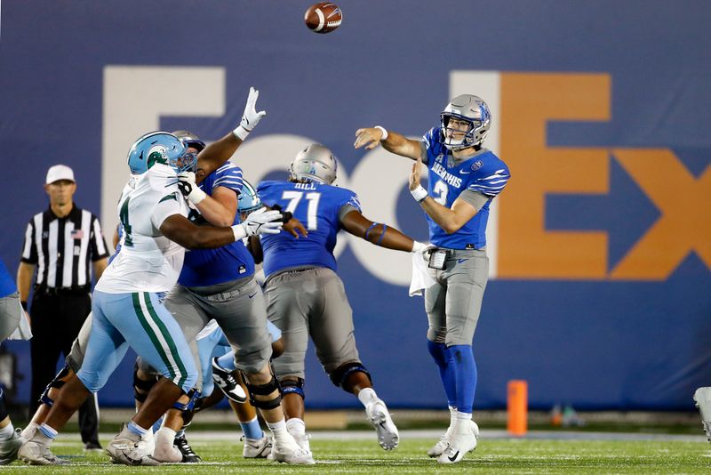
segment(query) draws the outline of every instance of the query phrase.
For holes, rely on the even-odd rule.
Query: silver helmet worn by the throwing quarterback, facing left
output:
[[[459,150],[481,145],[491,125],[491,111],[482,98],[461,94],[450,101],[442,114],[443,143],[447,149]],[[469,123],[464,137],[459,140],[447,137],[450,119],[454,117]],[[449,129],[453,130],[453,129]],[[457,131],[459,132],[459,131]]]

